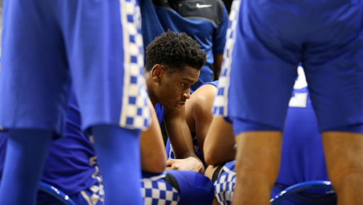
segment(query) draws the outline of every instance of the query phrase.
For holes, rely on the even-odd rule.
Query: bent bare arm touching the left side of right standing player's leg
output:
[[[233,127],[221,116],[213,118],[204,142],[204,154],[208,165],[235,160]]]

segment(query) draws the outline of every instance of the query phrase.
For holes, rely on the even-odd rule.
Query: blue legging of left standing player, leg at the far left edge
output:
[[[0,204],[35,204],[52,131],[11,129],[1,177]]]

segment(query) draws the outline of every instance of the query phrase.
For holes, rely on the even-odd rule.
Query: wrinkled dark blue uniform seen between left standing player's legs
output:
[[[4,166],[8,135],[7,131],[2,131],[0,135],[0,173]],[[81,130],[81,116],[74,94],[69,99],[65,135],[66,138],[55,140],[50,146],[42,182],[61,190],[76,204],[88,204],[86,199],[91,199],[92,195],[94,204],[104,204],[104,188],[96,166],[94,145],[90,136]],[[39,192],[38,203],[60,204],[60,201]]]

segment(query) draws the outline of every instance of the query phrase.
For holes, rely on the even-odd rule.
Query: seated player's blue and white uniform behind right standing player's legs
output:
[[[272,189],[274,197],[287,187],[311,180],[329,181],[318,122],[311,104],[302,67],[289,101],[282,141],[279,176]],[[224,177],[223,177],[224,176]],[[218,201],[230,204],[236,183],[235,161],[227,162],[215,182]],[[224,188],[225,187],[225,188]],[[336,196],[327,190],[312,189],[282,201],[281,205],[334,205]],[[220,204],[222,204],[220,202]]]

